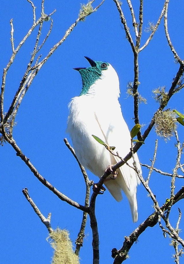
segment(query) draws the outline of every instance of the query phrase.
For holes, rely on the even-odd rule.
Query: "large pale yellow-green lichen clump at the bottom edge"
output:
[[[73,245],[67,230],[57,228],[50,233],[47,240],[55,250],[52,264],[79,264],[79,257],[73,251]]]

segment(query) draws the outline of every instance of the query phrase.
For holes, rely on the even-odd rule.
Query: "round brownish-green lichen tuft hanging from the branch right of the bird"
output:
[[[155,114],[155,131],[165,140],[170,139],[176,130],[176,114],[170,109],[157,111]]]

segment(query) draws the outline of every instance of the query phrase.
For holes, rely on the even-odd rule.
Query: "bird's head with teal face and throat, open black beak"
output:
[[[79,71],[82,77],[83,86],[80,95],[98,91],[103,93],[103,89],[107,93],[113,87],[118,87],[119,95],[119,78],[114,68],[108,62],[94,61],[86,56],[85,58],[89,61],[91,67],[74,68],[74,70]]]

